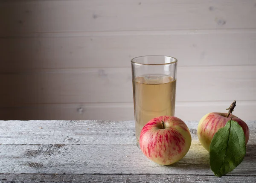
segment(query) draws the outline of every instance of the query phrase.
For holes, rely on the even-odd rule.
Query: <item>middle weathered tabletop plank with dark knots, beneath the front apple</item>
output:
[[[209,152],[192,144],[179,162],[161,166],[136,144],[0,145],[0,172],[26,174],[212,175]],[[247,145],[243,162],[229,175],[255,176],[256,145]]]

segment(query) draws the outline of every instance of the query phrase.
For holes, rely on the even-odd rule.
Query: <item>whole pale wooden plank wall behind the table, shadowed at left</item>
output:
[[[256,119],[256,0],[2,0],[0,119],[132,120],[140,55],[178,58],[175,116]]]

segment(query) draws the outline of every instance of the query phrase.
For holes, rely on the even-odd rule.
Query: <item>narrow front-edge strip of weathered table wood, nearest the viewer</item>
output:
[[[93,175],[93,174],[0,174],[0,182],[3,183],[99,183],[99,182],[119,182],[119,183],[255,183],[256,177],[245,176],[224,176],[221,178],[214,176],[198,175]]]

